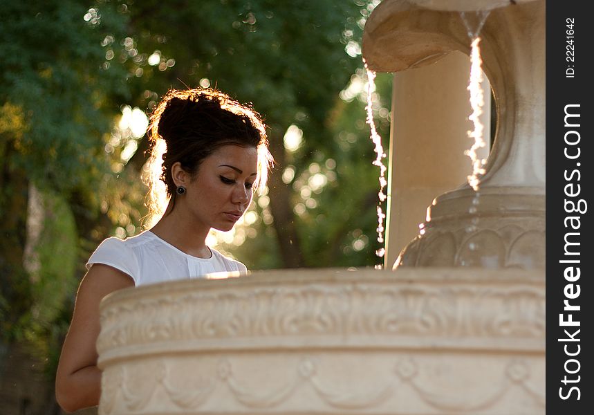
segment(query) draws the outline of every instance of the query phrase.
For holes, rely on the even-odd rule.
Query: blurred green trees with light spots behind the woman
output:
[[[145,229],[147,116],[168,89],[216,87],[269,127],[268,189],[212,246],[250,270],[380,264],[361,58],[378,3],[0,0],[0,414],[62,413],[75,291],[102,239]],[[375,82],[387,151],[391,76]]]

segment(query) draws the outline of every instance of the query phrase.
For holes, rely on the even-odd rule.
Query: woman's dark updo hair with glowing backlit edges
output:
[[[254,147],[258,151],[258,177],[254,186],[266,186],[272,156],[268,151],[266,126],[259,114],[229,95],[214,89],[171,89],[151,116],[151,158],[146,181],[149,185],[149,215],[165,211],[165,198],[175,198],[171,166],[196,175],[202,161],[223,145]],[[158,188],[160,187],[160,189]]]

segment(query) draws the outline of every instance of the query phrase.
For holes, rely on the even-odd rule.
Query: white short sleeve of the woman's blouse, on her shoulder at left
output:
[[[140,275],[138,259],[122,239],[115,237],[105,239],[86,262],[86,269],[91,269],[93,264],[112,266],[132,277],[135,285],[138,283],[138,275]]]

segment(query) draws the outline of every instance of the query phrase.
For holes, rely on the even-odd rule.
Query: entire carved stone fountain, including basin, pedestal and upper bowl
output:
[[[472,194],[460,188],[436,200],[396,271],[270,270],[113,293],[101,304],[100,414],[544,413],[544,1],[514,3],[384,0],[364,33],[371,69],[403,71],[467,51],[457,11],[492,9],[483,53],[500,121],[476,230],[465,234]],[[472,237],[482,268],[458,260]],[[481,250],[499,259],[485,264]]]

